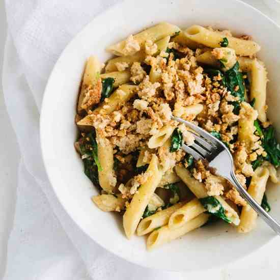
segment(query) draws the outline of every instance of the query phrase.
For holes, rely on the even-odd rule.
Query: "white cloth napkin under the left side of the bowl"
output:
[[[133,265],[89,239],[59,204],[42,163],[39,116],[50,71],[72,37],[117,2],[6,0],[9,36],[3,88],[22,157],[7,280],[183,279],[181,273]]]

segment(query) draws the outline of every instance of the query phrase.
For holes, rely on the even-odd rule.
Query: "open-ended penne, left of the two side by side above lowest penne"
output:
[[[183,202],[179,202],[169,208],[158,211],[155,214],[143,219],[141,222],[139,222],[139,225],[137,227],[137,235],[142,236],[152,232],[154,229],[157,229],[158,227],[167,225],[168,220],[172,215],[172,213],[180,209],[183,205],[184,205]]]

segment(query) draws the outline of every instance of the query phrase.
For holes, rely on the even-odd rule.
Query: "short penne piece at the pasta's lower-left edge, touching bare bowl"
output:
[[[99,209],[105,212],[120,212],[121,210],[124,210],[126,202],[126,200],[122,198],[121,194],[117,194],[116,196],[113,194],[93,195],[92,201]]]

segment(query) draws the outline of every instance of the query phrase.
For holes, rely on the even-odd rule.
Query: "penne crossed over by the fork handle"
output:
[[[258,167],[251,179],[248,193],[261,204],[268,180],[269,171],[266,167]],[[247,233],[254,229],[257,220],[257,212],[248,204],[243,206],[240,215],[240,224],[237,228],[240,233]]]

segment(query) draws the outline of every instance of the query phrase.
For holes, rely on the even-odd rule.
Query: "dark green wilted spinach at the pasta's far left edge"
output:
[[[94,184],[99,185],[98,171],[101,171],[102,167],[98,160],[95,136],[95,131],[87,133],[84,137],[79,139],[79,148],[85,167],[85,174]]]

